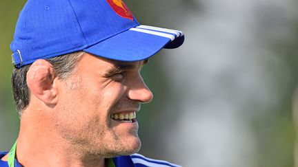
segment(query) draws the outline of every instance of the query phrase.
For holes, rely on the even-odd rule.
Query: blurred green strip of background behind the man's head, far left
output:
[[[17,138],[19,119],[15,111],[10,74],[12,60],[10,42],[14,34],[19,12],[26,1],[0,1],[0,150],[8,150]]]

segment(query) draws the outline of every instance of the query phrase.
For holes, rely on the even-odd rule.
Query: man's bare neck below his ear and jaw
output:
[[[32,112],[32,111],[31,111]],[[48,119],[23,112],[17,141],[17,159],[23,166],[105,166],[103,157],[84,155],[59,135]]]

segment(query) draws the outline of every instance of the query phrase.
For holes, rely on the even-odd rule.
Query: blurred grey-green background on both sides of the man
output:
[[[17,138],[10,42],[24,0],[0,1],[0,150]],[[182,30],[142,71],[140,153],[182,166],[295,166],[298,2],[126,0],[141,24]]]

